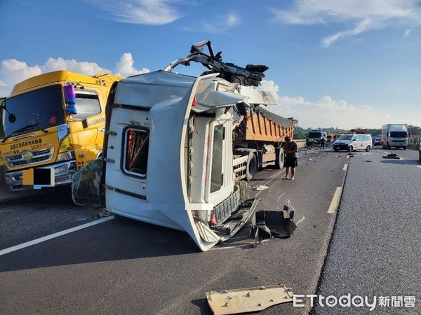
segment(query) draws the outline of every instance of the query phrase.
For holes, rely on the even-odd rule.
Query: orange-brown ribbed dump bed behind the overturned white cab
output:
[[[297,120],[283,118],[258,106],[254,112],[249,111],[246,128],[242,128],[241,140],[283,142],[286,136],[293,139]]]

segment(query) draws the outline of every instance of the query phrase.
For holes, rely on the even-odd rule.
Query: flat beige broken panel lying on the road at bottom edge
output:
[[[293,290],[283,285],[260,286],[206,292],[213,314],[239,314],[262,311],[276,304],[293,301]]]

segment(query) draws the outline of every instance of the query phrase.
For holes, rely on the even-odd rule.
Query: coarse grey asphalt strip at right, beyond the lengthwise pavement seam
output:
[[[350,159],[319,294],[367,296],[370,303],[384,297],[371,313],[421,314],[421,163],[416,151],[386,152],[402,159],[384,159],[384,150]],[[323,304],[316,303],[316,314],[368,312]]]

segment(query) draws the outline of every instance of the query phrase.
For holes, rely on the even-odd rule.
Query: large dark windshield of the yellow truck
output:
[[[48,128],[65,123],[63,111],[62,86],[49,85],[40,89],[26,92],[10,99],[6,99],[6,109],[15,114],[14,123],[8,121],[8,114],[4,111],[4,130],[0,134],[10,134],[27,125],[37,128]],[[24,130],[23,134],[31,130]]]

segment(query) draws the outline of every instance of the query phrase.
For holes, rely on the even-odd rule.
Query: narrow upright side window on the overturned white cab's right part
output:
[[[210,174],[210,193],[222,187],[222,149],[225,138],[225,127],[218,125],[213,128],[212,172]]]

